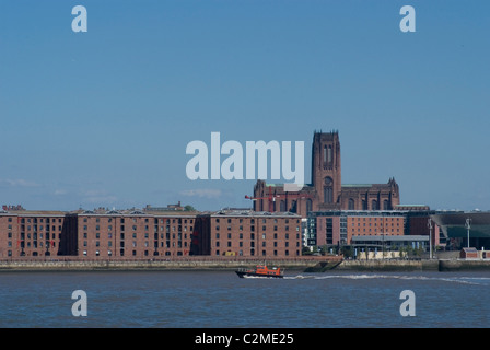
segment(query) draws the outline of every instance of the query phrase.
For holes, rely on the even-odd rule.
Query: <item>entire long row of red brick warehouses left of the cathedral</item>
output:
[[[0,211],[0,258],[295,257],[301,217],[253,211]]]

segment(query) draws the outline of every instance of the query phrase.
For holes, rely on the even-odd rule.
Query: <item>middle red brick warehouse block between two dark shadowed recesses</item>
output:
[[[63,255],[151,258],[188,256],[196,214],[82,211],[67,220]]]

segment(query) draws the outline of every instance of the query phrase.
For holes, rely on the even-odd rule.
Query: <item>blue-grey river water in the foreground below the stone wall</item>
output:
[[[2,272],[0,327],[489,327],[490,272]],[[88,316],[74,317],[74,290]],[[402,317],[400,292],[416,295]]]

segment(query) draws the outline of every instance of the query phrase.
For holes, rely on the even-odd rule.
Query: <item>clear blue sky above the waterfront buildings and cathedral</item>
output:
[[[71,9],[88,10],[73,33]],[[416,33],[399,10],[416,9]],[[0,0],[0,203],[245,207],[186,177],[192,140],[338,129],[342,183],[490,209],[488,1]]]

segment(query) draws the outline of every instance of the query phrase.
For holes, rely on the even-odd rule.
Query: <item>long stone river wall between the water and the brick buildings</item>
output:
[[[259,264],[305,272],[339,271],[465,271],[489,270],[483,259],[370,259],[342,260],[340,256],[296,258],[179,257],[172,259],[83,259],[74,257],[15,258],[0,260],[0,271],[144,271],[144,270],[234,270]]]

